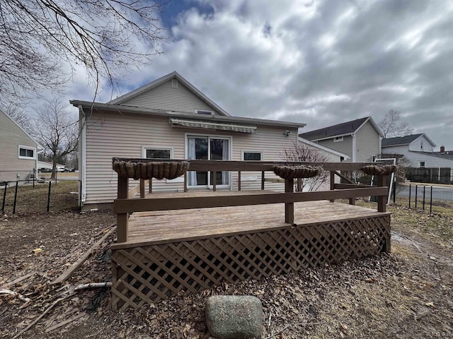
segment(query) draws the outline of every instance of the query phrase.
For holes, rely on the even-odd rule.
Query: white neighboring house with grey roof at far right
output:
[[[450,168],[450,182],[453,181],[453,155],[435,152],[436,144],[425,134],[411,134],[396,138],[382,139],[382,153],[403,155],[408,167]]]

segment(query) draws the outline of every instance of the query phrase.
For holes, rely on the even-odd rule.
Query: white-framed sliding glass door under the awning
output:
[[[188,159],[229,160],[229,138],[188,136]],[[189,186],[229,185],[229,172],[188,172]]]

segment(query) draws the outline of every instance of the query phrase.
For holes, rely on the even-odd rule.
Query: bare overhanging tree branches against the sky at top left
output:
[[[110,85],[161,53],[162,1],[0,0],[0,98],[59,90],[78,65]],[[69,66],[69,69],[67,69]]]

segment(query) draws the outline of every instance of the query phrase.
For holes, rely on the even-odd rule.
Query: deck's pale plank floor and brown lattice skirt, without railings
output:
[[[133,213],[127,242],[111,246],[111,307],[390,251],[390,213],[309,201],[284,220],[285,203]]]

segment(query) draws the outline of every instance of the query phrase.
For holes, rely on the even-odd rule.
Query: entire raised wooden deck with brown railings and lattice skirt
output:
[[[294,191],[294,175],[289,174],[313,163],[190,160],[190,170],[210,171],[214,177],[219,171],[239,171],[239,177],[260,171],[262,190],[216,191],[214,185],[213,191],[146,195],[154,177],[148,173],[149,162],[113,159],[114,169],[122,164],[125,170],[118,172],[113,204],[117,242],[111,246],[112,309],[390,251],[387,174],[382,168],[372,167],[382,175],[377,186],[367,186],[338,172],[362,170],[365,163],[317,164],[331,172],[330,190],[302,192],[300,178]],[[151,165],[154,173],[154,165],[160,170],[175,164]],[[286,167],[284,193],[264,190],[265,172],[275,172],[275,166]],[[140,178],[133,189],[131,177]],[[184,177],[187,191],[187,172]],[[347,184],[335,183],[335,177]],[[134,198],[138,193],[141,198]],[[354,206],[355,198],[363,196],[377,196],[377,210]],[[336,199],[348,199],[350,205],[331,202]]]

